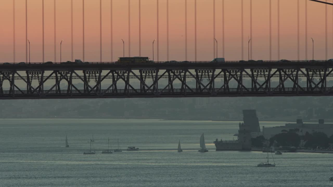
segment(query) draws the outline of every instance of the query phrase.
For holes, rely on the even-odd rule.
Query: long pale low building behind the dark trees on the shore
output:
[[[276,134],[290,130],[294,130],[299,135],[305,135],[306,132],[324,132],[328,137],[330,137],[333,134],[333,124],[324,123],[324,119],[319,119],[318,123],[303,123],[302,119],[297,119],[296,123],[286,123],[284,126],[262,126],[262,135],[269,139]]]

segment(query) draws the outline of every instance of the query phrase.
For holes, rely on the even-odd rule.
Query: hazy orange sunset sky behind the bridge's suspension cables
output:
[[[225,1],[225,58],[241,60],[240,0]],[[244,59],[247,59],[249,1],[244,0]],[[15,0],[16,62],[25,61],[25,0]],[[31,62],[42,62],[42,0],[28,0],[28,39]],[[45,62],[54,61],[53,0],[45,2]],[[57,61],[71,60],[71,1],[56,0]],[[139,55],[138,2],[131,0],[131,56]],[[166,60],[166,0],[160,2],[160,61]],[[184,0],[169,0],[169,60],[185,60]],[[194,60],[194,0],[187,0],[188,60]],[[222,0],[216,0],[218,57],[222,57]],[[269,60],[269,0],[253,0],[253,59]],[[213,0],[197,0],[197,60],[213,58]],[[297,0],[280,0],[280,58],[297,59]],[[74,59],[82,59],[82,0],[73,0]],[[156,0],[141,0],[142,56],[152,58],[152,42],[157,39]],[[328,5],[328,58],[333,58],[332,14]],[[0,62],[13,61],[13,4],[0,1]],[[102,0],[102,60],[111,61],[110,0]],[[85,60],[100,59],[99,1],[85,0]],[[113,61],[123,55],[121,39],[128,55],[128,0],[113,0]],[[305,59],[305,0],[300,0],[300,59]],[[325,59],[325,5],[308,2],[308,58]],[[157,51],[155,42],[155,52]],[[155,60],[157,54],[155,53]],[[277,0],[272,0],[272,58],[277,59]]]

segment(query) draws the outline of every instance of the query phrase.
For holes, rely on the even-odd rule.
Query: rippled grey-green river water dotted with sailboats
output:
[[[147,119],[2,119],[0,186],[332,186],[333,154],[273,155],[275,168],[258,168],[266,153],[215,151],[232,140],[239,122]],[[260,122],[276,126],[285,122]],[[204,132],[209,152],[200,153]],[[70,147],[65,147],[65,135]],[[84,155],[92,150],[95,155]],[[108,147],[125,150],[101,154]],[[176,152],[178,140],[184,150]],[[140,151],[126,151],[136,146]],[[273,162],[270,155],[270,161]]]

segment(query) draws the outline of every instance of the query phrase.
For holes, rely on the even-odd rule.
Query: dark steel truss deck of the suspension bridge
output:
[[[332,71],[331,61],[0,65],[0,99],[325,96]]]

